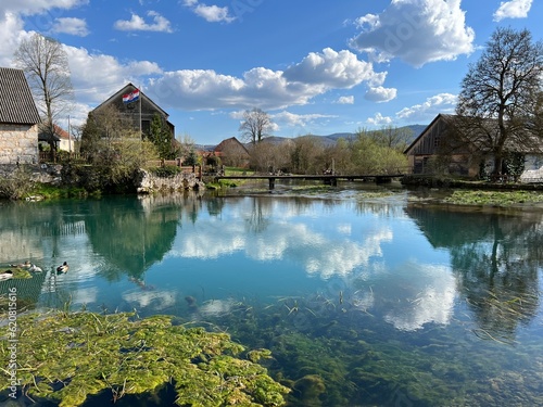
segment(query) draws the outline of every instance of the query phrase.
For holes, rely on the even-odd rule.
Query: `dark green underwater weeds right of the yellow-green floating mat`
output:
[[[371,292],[363,293],[363,283],[354,283],[359,290],[333,296],[279,298],[266,306],[235,302],[224,313],[206,315],[206,321],[228,328],[232,338],[250,347],[272,351],[270,374],[292,389],[288,406],[543,403],[542,393],[535,391],[543,380],[543,357],[521,369],[503,365],[513,354],[519,363],[540,354],[540,343],[516,348],[490,328],[471,330],[468,319],[412,331],[383,326],[383,316],[366,308],[364,296]],[[518,301],[527,306],[536,300],[527,295]],[[500,323],[519,315],[509,298],[489,297],[478,306],[500,310]],[[197,308],[192,304],[191,310]],[[531,378],[523,380],[535,385],[534,391],[519,392],[521,378]]]

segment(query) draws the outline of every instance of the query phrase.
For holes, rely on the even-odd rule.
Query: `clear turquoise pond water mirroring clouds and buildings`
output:
[[[292,406],[543,406],[543,213],[372,192],[2,203],[0,263],[43,268],[31,307],[267,347]]]

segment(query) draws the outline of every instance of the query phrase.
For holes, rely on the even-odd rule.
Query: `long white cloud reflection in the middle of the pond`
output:
[[[362,241],[355,241],[345,236],[353,229],[345,222],[334,227],[333,236],[288,218],[266,225],[254,233],[248,233],[245,226],[233,219],[220,225],[213,219],[199,221],[190,233],[186,229],[180,233],[169,255],[204,259],[239,252],[258,262],[290,259],[303,265],[308,274],[327,279],[349,275],[366,266],[372,256],[381,257],[381,243],[393,238],[392,231],[382,226],[366,232]]]

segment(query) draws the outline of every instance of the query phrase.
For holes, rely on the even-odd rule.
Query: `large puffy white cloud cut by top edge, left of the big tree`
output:
[[[473,51],[460,0],[394,0],[381,14],[357,20],[362,29],[351,46],[376,61],[399,58],[420,67]]]

